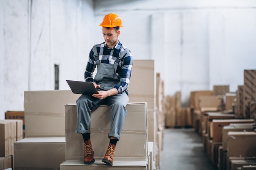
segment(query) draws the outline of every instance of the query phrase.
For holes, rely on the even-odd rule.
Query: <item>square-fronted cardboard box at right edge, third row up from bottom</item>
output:
[[[256,132],[228,132],[228,157],[255,157]]]

